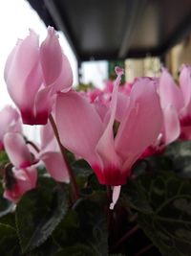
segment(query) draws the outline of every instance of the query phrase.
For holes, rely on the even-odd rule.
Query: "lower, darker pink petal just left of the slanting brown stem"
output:
[[[60,152],[49,151],[40,155],[49,174],[57,181],[69,182],[68,168]]]

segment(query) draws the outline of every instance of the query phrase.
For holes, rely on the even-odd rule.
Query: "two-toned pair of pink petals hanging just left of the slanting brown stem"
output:
[[[69,173],[67,164],[58,148],[57,141],[53,134],[53,128],[48,122],[46,126],[41,128],[41,150],[39,153],[48,173],[60,182],[69,182]]]

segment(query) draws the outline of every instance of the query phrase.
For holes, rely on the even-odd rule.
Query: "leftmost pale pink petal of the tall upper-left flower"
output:
[[[31,108],[35,92],[42,82],[38,60],[38,36],[31,31],[24,40],[18,41],[5,67],[8,91],[19,108]]]

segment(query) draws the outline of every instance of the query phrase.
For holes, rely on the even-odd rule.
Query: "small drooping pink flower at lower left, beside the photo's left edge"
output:
[[[4,136],[4,146],[11,160],[11,187],[5,182],[4,197],[16,202],[27,191],[35,188],[37,172],[32,163],[32,154],[20,133],[8,132]]]

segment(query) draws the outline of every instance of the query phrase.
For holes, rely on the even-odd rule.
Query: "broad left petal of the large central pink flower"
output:
[[[59,93],[55,120],[64,147],[89,163],[98,161],[95,149],[103,125],[94,105],[74,91]]]

